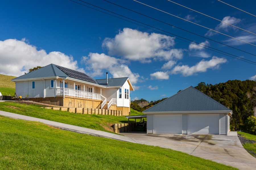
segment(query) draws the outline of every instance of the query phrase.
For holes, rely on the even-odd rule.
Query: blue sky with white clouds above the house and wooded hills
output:
[[[256,54],[255,46],[146,7],[138,2],[110,0],[158,20],[215,41]],[[256,35],[220,24],[219,21],[167,0],[139,0],[181,18],[256,44]],[[77,1],[78,2],[78,1]],[[212,48],[256,61],[255,56],[187,33],[106,1],[86,1],[152,25],[164,31],[202,42]],[[256,32],[256,17],[219,1],[175,1],[219,20]],[[79,2],[82,3],[82,2]],[[227,1],[255,14],[256,1]],[[85,4],[86,5],[86,4]],[[216,84],[246,80],[255,65],[168,37],[69,0],[3,1],[0,6],[0,74],[19,76],[29,68],[59,64],[94,78],[129,76],[136,90],[131,98],[158,100],[200,82]]]

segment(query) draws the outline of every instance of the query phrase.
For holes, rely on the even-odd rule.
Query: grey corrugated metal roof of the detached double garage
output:
[[[179,112],[179,111],[231,111],[216,100],[196,88],[188,88],[157,103],[143,112]]]

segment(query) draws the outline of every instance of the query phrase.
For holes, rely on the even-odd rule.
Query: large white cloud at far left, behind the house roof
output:
[[[72,56],[58,51],[47,54],[45,50],[37,50],[36,46],[27,42],[25,39],[0,41],[0,74],[20,76],[24,72],[28,73],[30,68],[51,63],[84,72]]]

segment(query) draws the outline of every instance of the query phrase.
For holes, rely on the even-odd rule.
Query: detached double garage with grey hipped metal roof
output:
[[[227,135],[232,110],[190,86],[143,113],[147,133]]]

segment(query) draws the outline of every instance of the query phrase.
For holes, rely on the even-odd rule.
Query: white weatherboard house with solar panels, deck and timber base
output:
[[[130,91],[134,90],[128,77],[94,79],[82,72],[59,65],[45,67],[12,79],[16,94],[32,101],[64,106],[112,109],[130,112]]]

